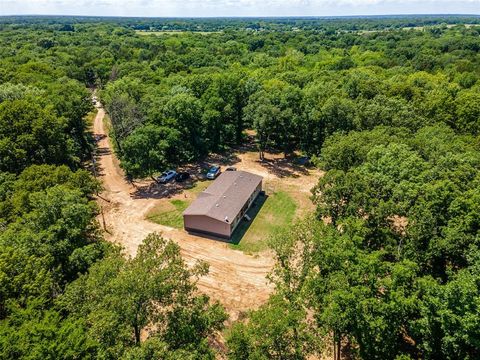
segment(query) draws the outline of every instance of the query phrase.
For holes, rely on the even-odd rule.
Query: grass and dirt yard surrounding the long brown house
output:
[[[144,195],[160,196],[155,207],[148,213],[149,220],[160,225],[183,228],[182,212],[195,200],[198,193],[210,185],[205,180],[206,170],[212,165],[227,166],[237,170],[254,172],[263,177],[263,189],[267,196],[259,196],[248,211],[251,221],[242,221],[231,239],[231,247],[247,253],[267,249],[271,235],[281,231],[293,219],[313,210],[309,197],[310,189],[318,181],[318,171],[295,165],[281,154],[268,154],[268,160],[260,161],[258,152],[245,146],[227,155],[212,155],[205,161],[187,166],[191,179],[182,184],[169,183],[142,188]]]

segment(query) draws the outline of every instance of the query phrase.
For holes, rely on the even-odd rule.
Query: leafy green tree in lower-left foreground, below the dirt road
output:
[[[168,350],[191,347],[208,355],[203,343],[223,327],[226,315],[196,295],[196,280],[207,271],[205,263],[187,268],[177,244],[151,234],[134,258],[116,251],[93,265],[60,303],[74,318],[87,319],[88,336],[101,357],[121,357],[141,346],[147,334]]]

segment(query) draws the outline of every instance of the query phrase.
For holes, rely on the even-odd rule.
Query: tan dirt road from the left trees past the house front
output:
[[[104,191],[99,199],[109,233],[107,240],[121,244],[129,255],[151,232],[160,232],[176,241],[187,263],[204,260],[210,264],[210,273],[200,279],[199,289],[212,299],[220,301],[231,319],[242,311],[264,303],[272,291],[266,275],[273,260],[266,253],[249,256],[231,249],[226,243],[189,235],[181,230],[154,224],[145,215],[158,200],[133,196],[135,188],[124,179],[118,160],[113,154],[104,127],[105,112],[98,109],[94,122],[94,135],[98,140],[99,176]]]

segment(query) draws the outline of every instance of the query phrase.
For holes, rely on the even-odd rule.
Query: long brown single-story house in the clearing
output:
[[[246,171],[226,171],[183,212],[188,232],[230,239],[262,190],[262,177]]]

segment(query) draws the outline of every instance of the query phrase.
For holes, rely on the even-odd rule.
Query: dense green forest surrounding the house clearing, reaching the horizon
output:
[[[0,18],[0,358],[480,358],[479,22]],[[324,172],[267,303],[232,322],[175,242],[103,239],[94,89],[129,179],[246,130]]]

